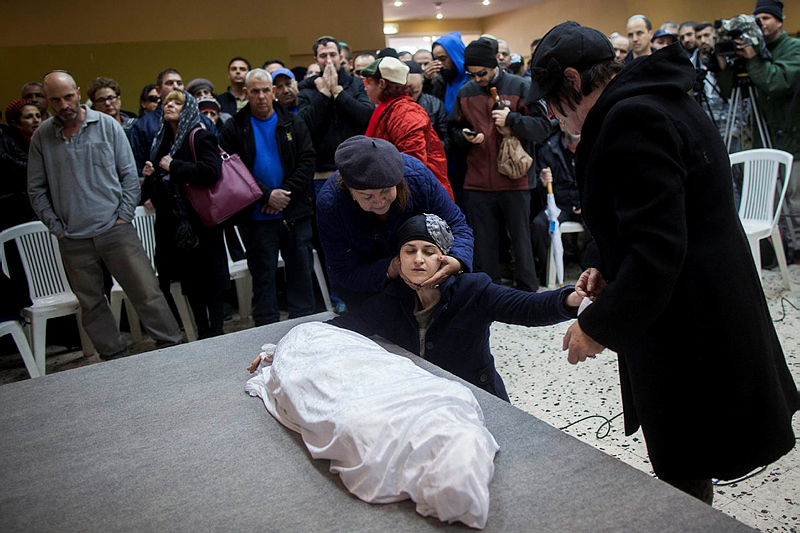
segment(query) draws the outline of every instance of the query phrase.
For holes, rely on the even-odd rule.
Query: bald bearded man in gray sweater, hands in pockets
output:
[[[83,327],[102,359],[127,355],[103,292],[102,261],[158,345],[177,344],[178,324],[130,223],[140,190],[122,127],[81,106],[81,90],[66,72],[47,74],[44,91],[54,117],[31,139],[28,196],[36,215],[58,236]]]

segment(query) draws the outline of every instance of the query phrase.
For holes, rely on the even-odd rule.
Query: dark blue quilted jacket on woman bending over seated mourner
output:
[[[472,270],[472,229],[463,213],[422,162],[401,155],[411,194],[405,210],[393,205],[385,223],[362,210],[339,186],[338,172],[328,178],[317,197],[317,226],[331,288],[348,306],[383,289],[389,263],[399,252],[397,230],[414,215],[432,213],[444,219],[453,231],[448,255],[461,261],[464,271]]]

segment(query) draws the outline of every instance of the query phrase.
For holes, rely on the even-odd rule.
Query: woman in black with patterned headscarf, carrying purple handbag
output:
[[[186,184],[214,185],[222,160],[216,138],[201,127],[197,102],[188,93],[172,91],[164,101],[150,159],[143,174],[157,213],[158,276],[162,284],[181,282],[201,339],[222,335],[223,293],[230,285],[222,227],[206,227],[186,196]]]

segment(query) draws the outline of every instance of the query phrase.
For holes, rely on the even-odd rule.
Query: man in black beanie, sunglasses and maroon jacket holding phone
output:
[[[454,148],[466,153],[463,201],[475,235],[475,270],[501,282],[497,237],[507,230],[516,288],[535,292],[539,282],[531,249],[529,180],[501,174],[497,157],[508,135],[519,138],[533,154],[533,143],[549,135],[550,121],[538,104],[530,110],[525,105],[527,83],[497,65],[488,40],[478,39],[466,47],[464,65],[472,80],[458,92],[449,129]],[[496,89],[499,105],[494,105],[490,88]],[[533,166],[529,173],[535,173]]]

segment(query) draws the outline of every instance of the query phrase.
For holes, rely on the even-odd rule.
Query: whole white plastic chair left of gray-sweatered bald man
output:
[[[30,307],[22,309],[21,314],[30,322],[27,333],[39,375],[44,376],[47,373],[45,355],[47,320],[50,318],[75,315],[83,353],[92,355],[94,346],[81,324],[81,306],[75,293],[70,289],[56,236],[51,235],[47,226],[38,221],[20,224],[0,232],[0,257],[6,275],[8,275],[8,265],[5,243],[12,240],[17,245],[33,302]],[[30,369],[28,371],[30,372]],[[33,376],[33,373],[31,375]]]

